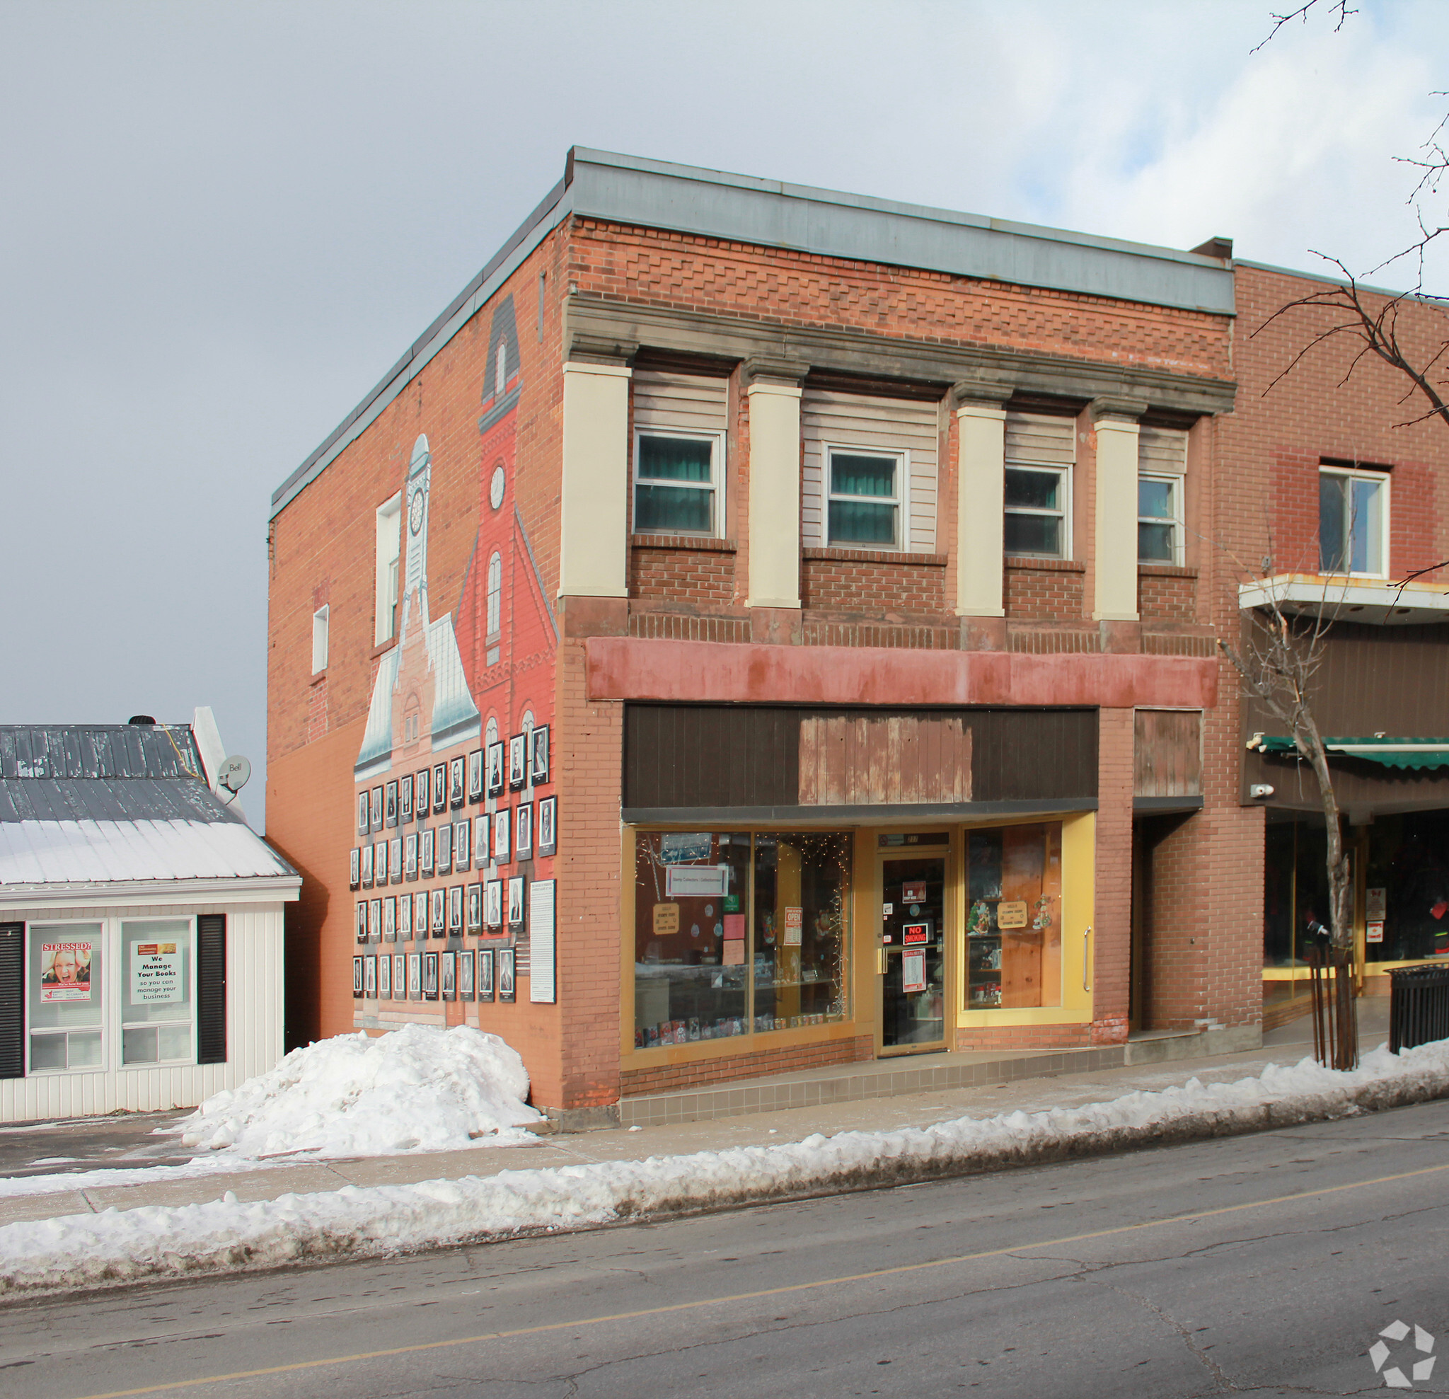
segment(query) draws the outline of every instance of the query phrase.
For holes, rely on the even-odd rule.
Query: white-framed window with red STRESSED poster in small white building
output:
[[[101,1067],[104,984],[100,923],[32,925],[32,1073]]]

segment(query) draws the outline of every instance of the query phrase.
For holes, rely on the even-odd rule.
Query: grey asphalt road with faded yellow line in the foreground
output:
[[[1449,1103],[0,1309],[0,1395],[1345,1395],[1449,1350]],[[1426,1356],[1413,1332],[1384,1370]],[[1449,1390],[1443,1373],[1413,1386]]]

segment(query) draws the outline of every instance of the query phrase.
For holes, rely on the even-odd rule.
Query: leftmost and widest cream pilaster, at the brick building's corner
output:
[[[620,364],[564,365],[561,597],[629,596],[629,378]]]

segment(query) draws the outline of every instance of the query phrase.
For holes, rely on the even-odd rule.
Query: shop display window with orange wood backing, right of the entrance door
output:
[[[966,1009],[1062,1003],[1059,822],[966,832]]]

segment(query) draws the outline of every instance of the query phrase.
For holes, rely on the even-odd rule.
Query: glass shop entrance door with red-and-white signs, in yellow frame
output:
[[[946,858],[881,861],[881,1048],[946,1042]]]

